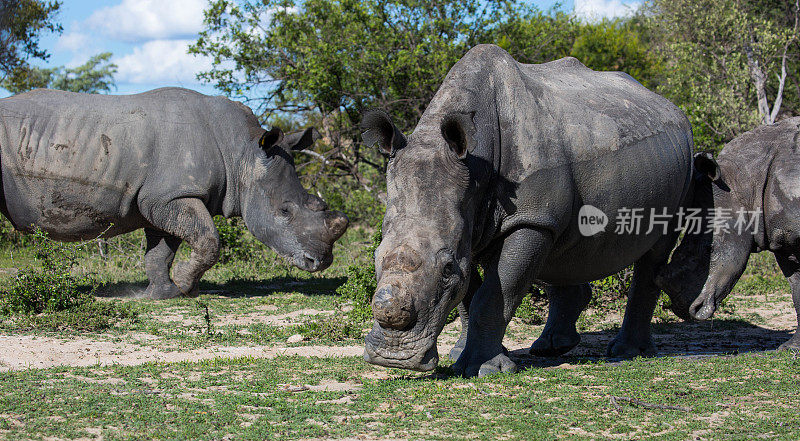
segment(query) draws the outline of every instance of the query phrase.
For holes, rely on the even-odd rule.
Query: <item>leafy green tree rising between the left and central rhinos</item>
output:
[[[214,59],[201,78],[244,98],[265,119],[288,113],[322,129],[322,156],[313,166],[299,166],[314,176],[312,185],[350,176],[356,181],[350,190],[374,194],[385,164],[360,146],[360,113],[379,107],[402,130],[412,128],[448,69],[493,27],[505,5],[216,0],[206,11],[207,30],[190,51]]]

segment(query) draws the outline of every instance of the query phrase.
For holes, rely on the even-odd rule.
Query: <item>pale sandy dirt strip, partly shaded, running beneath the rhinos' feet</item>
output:
[[[676,322],[656,325],[653,335],[659,355],[691,357],[776,349],[789,339],[797,322],[790,296],[776,294],[773,297],[769,303],[761,306],[749,309],[737,307],[737,317],[753,317],[752,321],[722,317],[700,323]],[[750,303],[758,304],[757,302]],[[276,314],[270,308],[264,308],[256,313],[248,313],[246,317],[225,317],[224,321],[243,323],[262,321],[288,326],[303,315],[325,316],[329,313],[331,311],[309,309],[290,314]],[[171,322],[180,320],[180,318],[165,314],[159,320]],[[610,314],[604,321],[607,324],[620,323],[620,317]],[[458,320],[445,327],[438,343],[440,356],[446,355],[452,348],[458,338],[460,328]],[[598,326],[598,329],[603,328],[606,330],[583,332],[581,344],[563,357],[538,358],[528,355],[527,349],[541,331],[541,326],[526,327],[515,319],[509,326],[504,344],[511,352],[512,358],[523,367],[569,367],[572,363],[580,360],[601,359],[605,356],[605,348],[614,338],[616,331],[608,329],[608,326]],[[529,334],[530,337],[528,337]],[[360,344],[325,346],[314,344],[312,341],[305,341],[300,346],[293,344],[209,345],[192,350],[169,350],[147,344],[149,340],[157,340],[156,336],[139,334],[131,337],[136,340],[136,343],[80,336],[0,335],[0,348],[2,348],[0,350],[0,371],[53,366],[138,365],[149,362],[169,363],[243,356],[256,358],[273,358],[282,355],[352,357],[360,356],[363,353],[363,346]]]

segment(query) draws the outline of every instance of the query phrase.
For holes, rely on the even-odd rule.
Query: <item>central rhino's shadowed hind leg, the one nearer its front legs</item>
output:
[[[545,288],[550,305],[542,334],[531,345],[530,353],[539,357],[566,354],[581,342],[575,328],[578,317],[592,298],[588,283]]]

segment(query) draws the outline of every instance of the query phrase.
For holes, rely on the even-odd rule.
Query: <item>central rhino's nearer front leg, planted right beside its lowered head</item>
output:
[[[469,308],[467,341],[453,369],[465,377],[516,372],[503,336],[527,289],[550,251],[549,231],[520,229],[509,234],[488,259],[484,281]]]

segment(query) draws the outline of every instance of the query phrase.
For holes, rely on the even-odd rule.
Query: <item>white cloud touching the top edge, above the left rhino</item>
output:
[[[87,24],[128,42],[194,36],[203,29],[206,0],[122,0],[94,12]]]

